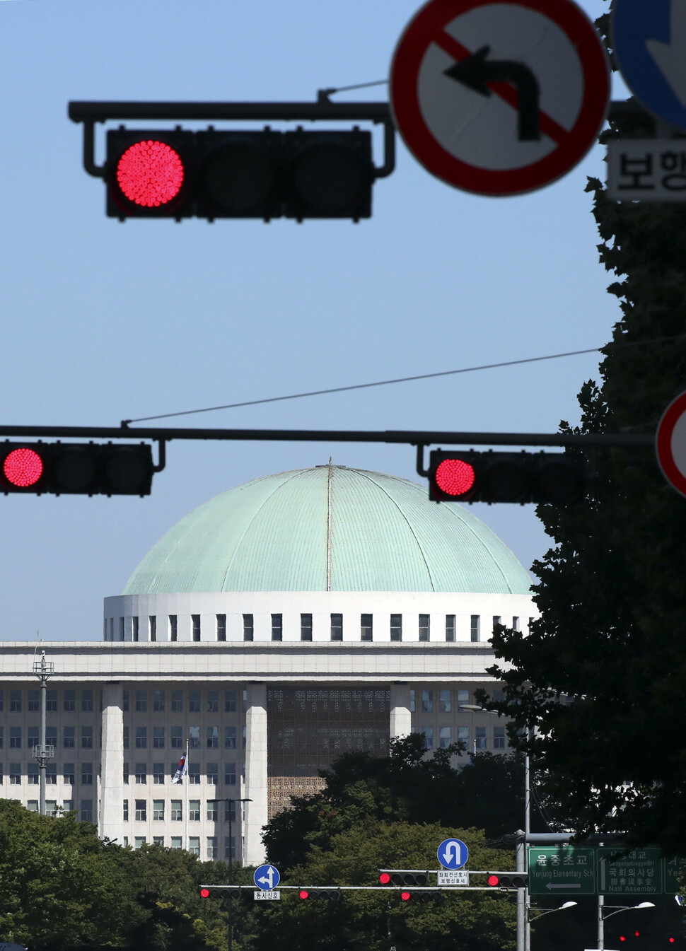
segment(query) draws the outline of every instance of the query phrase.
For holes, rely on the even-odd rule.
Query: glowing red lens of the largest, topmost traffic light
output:
[[[165,142],[134,142],[117,163],[117,182],[129,202],[159,207],[179,194],[184,163]]]

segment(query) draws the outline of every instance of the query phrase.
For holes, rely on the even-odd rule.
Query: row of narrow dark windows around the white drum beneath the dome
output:
[[[457,639],[457,629],[456,629],[456,614],[446,614],[445,615],[445,627],[441,631],[439,639],[445,639],[446,641],[453,642]],[[529,624],[531,624],[533,618],[529,618]],[[125,618],[120,617],[120,633],[121,636],[119,640],[124,640],[124,622]],[[105,626],[105,639],[114,640],[113,631],[114,631],[114,618],[109,618],[109,626],[106,621]],[[493,631],[497,625],[502,623],[502,617],[500,614],[494,614],[492,616],[492,626],[491,631]],[[342,641],[343,640],[343,614],[341,613],[332,613],[330,615],[330,627],[329,627],[329,638],[332,641]],[[515,631],[519,631],[519,617],[512,618],[512,627]],[[390,639],[392,641],[402,641],[402,614],[391,614],[388,619],[388,630],[390,633]],[[108,631],[111,636],[108,636]],[[132,638],[134,641],[139,639],[139,619],[138,617],[131,618],[131,631]],[[177,641],[179,638],[179,618],[177,614],[168,614],[167,615],[167,632],[168,639],[170,641]],[[148,617],[148,639],[150,641],[157,640],[157,618],[154,616]],[[215,620],[215,626],[213,631],[214,637],[217,641],[226,640],[226,615],[217,614]],[[243,639],[244,641],[252,641],[255,637],[255,619],[253,614],[244,614],[243,615]],[[190,615],[190,638],[193,641],[200,641],[201,639],[201,615],[200,614],[191,614]],[[284,615],[283,614],[272,614],[271,615],[271,639],[272,641],[282,641],[284,639]],[[300,615],[300,639],[302,641],[311,641],[312,640],[312,614],[301,614]],[[360,639],[363,641],[372,641],[374,640],[373,635],[373,615],[372,614],[361,614],[360,615]],[[421,641],[432,640],[431,635],[431,615],[430,614],[420,614],[419,615],[419,639]],[[435,634],[433,639],[437,639]],[[470,639],[473,642],[479,642],[481,639],[481,618],[480,614],[472,614],[470,616]],[[37,691],[34,691],[37,692]]]

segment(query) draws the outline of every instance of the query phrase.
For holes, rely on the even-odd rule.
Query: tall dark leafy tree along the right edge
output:
[[[607,137],[650,133],[623,120]],[[686,208],[612,202],[596,179],[587,190],[621,318],[574,432],[653,433],[686,388]],[[686,501],[652,449],[579,455],[594,474],[584,502],[538,510],[554,539],[533,567],[540,620],[494,635],[513,669],[491,670],[506,684],[493,706],[537,728],[519,745],[579,833],[686,855]]]

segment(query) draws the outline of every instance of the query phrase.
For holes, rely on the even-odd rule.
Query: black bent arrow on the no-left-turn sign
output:
[[[481,47],[471,56],[443,70],[446,76],[462,86],[490,96],[487,83],[511,83],[519,93],[518,138],[520,142],[540,139],[539,81],[530,68],[514,60],[487,60],[489,46]]]

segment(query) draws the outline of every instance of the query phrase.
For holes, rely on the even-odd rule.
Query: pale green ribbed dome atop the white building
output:
[[[461,506],[382,473],[317,466],[253,479],[182,518],[125,594],[529,591],[515,555]]]

